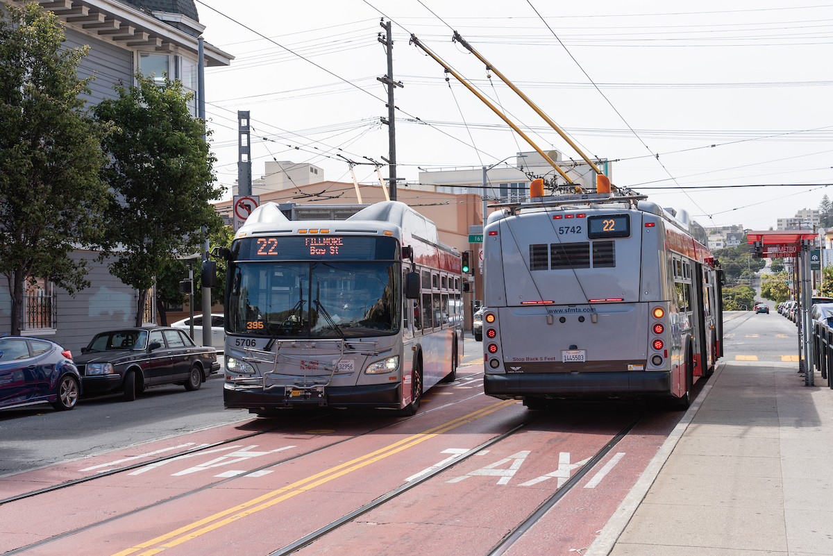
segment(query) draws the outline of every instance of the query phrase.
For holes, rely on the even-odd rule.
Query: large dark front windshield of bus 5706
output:
[[[394,262],[242,262],[232,266],[228,330],[339,338],[399,330]]]

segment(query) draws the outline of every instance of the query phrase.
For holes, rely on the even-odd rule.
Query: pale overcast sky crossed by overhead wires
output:
[[[400,178],[531,150],[453,77],[446,82],[409,45],[411,33],[543,150],[577,156],[496,75],[487,79],[451,41],[455,29],[586,153],[614,161],[617,186],[685,208],[704,226],[766,230],[833,197],[823,187],[833,183],[833,3],[787,3],[197,0],[207,42],[235,57],[206,72],[217,178],[230,197],[238,110],[252,113],[254,177],[274,158],[349,182],[337,153],[387,157],[387,92],[377,81],[387,72],[377,41],[384,19],[393,77],[405,86],[396,92]],[[357,177],[377,183],[372,167]]]

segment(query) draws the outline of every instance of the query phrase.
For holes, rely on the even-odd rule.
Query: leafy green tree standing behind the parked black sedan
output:
[[[139,290],[141,324],[153,277],[180,256],[202,251],[201,226],[217,230],[222,219],[208,201],[219,199],[202,120],[191,116],[180,82],[163,85],[141,74],[137,85],[116,87],[118,98],[102,101],[96,117],[110,122],[102,141],[109,157],[102,176],[117,202],[110,211],[107,249],[117,245],[110,271]]]

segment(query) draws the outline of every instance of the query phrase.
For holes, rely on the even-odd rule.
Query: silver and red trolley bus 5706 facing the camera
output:
[[[252,211],[228,259],[226,408],[412,415],[462,356],[461,257],[397,201],[343,221]]]

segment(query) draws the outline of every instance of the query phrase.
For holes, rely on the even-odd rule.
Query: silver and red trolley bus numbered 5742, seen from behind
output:
[[[496,206],[483,236],[486,394],[687,407],[722,355],[722,272],[705,231],[646,196]]]

